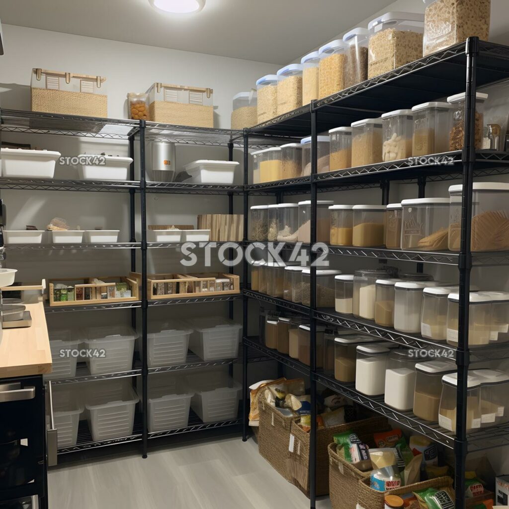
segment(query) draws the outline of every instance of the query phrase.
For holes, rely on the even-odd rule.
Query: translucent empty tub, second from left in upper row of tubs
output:
[[[138,333],[125,325],[89,327],[85,331],[85,348],[94,352],[104,350],[104,356],[87,357],[91,375],[120,373],[132,369],[134,342]]]

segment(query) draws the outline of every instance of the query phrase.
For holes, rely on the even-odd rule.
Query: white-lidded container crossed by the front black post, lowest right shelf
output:
[[[456,399],[458,374],[442,377],[442,395],[438,410],[438,423],[442,428],[456,433]],[[467,429],[470,433],[480,428],[480,379],[470,371],[467,377]]]

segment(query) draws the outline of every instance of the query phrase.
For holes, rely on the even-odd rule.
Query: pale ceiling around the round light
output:
[[[207,0],[176,16],[148,0],[17,0],[0,14],[5,24],[285,65],[393,1]]]

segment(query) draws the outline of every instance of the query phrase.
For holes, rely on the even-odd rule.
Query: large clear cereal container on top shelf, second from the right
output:
[[[388,12],[367,25],[367,77],[374,78],[422,57],[424,15]]]

